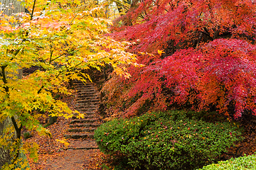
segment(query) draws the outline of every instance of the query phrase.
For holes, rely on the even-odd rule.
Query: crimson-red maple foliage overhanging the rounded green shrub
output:
[[[144,67],[131,66],[131,79],[119,84],[113,77],[105,85],[110,111],[256,114],[255,6],[249,0],[137,1],[110,35],[134,42],[130,52]]]

